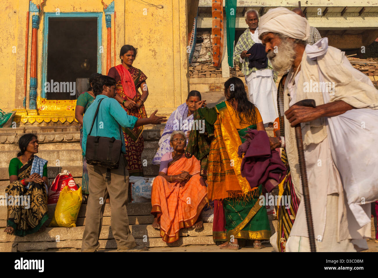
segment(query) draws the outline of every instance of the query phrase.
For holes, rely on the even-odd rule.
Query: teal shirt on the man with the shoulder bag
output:
[[[98,115],[90,135],[110,138],[114,137],[117,140],[122,140],[122,152],[125,154],[125,138],[124,136],[122,136],[122,138],[119,138],[120,134],[118,124],[122,127],[132,129],[134,128],[138,118],[127,114],[127,112],[114,98],[108,98],[105,95],[98,95],[96,96],[95,101],[93,101],[91,106],[88,107],[87,111],[85,111],[83,117],[83,155],[85,155],[85,148],[87,147],[87,136],[91,129],[93,118],[95,117],[98,103],[102,98],[105,99],[101,101],[100,109],[98,110]]]

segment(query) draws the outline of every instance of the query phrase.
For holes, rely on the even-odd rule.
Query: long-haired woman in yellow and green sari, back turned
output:
[[[214,241],[226,241],[221,249],[238,250],[238,239],[254,241],[254,248],[264,246],[261,240],[271,236],[265,206],[259,205],[262,185],[251,188],[242,177],[238,148],[248,128],[265,130],[259,110],[248,101],[241,79],[225,82],[226,101],[215,106],[214,139],[208,163],[208,197],[214,200]]]

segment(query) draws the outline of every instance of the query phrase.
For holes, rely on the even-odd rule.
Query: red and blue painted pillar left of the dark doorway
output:
[[[32,16],[29,109],[37,109],[37,30],[39,15]]]

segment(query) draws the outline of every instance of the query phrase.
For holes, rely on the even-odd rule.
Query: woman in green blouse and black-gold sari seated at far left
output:
[[[44,231],[47,214],[47,160],[37,155],[38,140],[25,134],[20,152],[9,163],[9,185],[5,189],[8,215],[5,233],[26,236]]]

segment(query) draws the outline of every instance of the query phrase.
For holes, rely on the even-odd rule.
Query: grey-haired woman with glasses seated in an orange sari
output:
[[[151,214],[155,216],[152,227],[160,228],[160,236],[169,243],[180,238],[181,228],[203,227],[200,214],[208,202],[208,189],[200,176],[200,161],[184,155],[184,132],[172,132],[170,144],[174,151],[161,158],[151,193]]]

